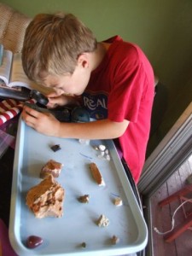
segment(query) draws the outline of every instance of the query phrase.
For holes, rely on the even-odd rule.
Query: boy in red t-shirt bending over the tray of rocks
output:
[[[26,75],[55,92],[48,108],[81,100],[89,123],[60,123],[24,107],[22,118],[48,136],[116,139],[135,183],[143,169],[154,100],[154,73],[137,45],[118,36],[97,43],[89,28],[68,14],[37,15],[22,50]]]

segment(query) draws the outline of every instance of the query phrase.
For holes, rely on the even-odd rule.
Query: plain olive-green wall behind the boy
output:
[[[166,87],[166,113],[150,141],[154,148],[191,102],[191,0],[5,0],[9,6],[33,16],[64,10],[79,16],[98,40],[119,34],[141,46],[154,72]],[[157,117],[158,119],[158,117]]]

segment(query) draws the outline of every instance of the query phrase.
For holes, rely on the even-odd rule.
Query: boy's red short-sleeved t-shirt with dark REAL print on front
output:
[[[119,36],[105,42],[111,45],[100,66],[91,73],[83,104],[91,118],[130,121],[119,137],[119,145],[137,183],[150,130],[154,72],[137,45],[124,42]]]

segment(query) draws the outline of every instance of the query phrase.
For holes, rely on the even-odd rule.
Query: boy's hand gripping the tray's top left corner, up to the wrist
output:
[[[24,106],[21,116],[26,125],[36,131],[48,136],[58,136],[61,123],[51,113],[41,113]]]

